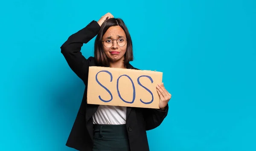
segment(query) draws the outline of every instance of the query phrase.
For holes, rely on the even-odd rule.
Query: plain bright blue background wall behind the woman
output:
[[[1,1],[1,151],[74,151],[84,85],[60,46],[107,12],[131,32],[131,64],[172,93],[151,151],[256,151],[255,0]]]

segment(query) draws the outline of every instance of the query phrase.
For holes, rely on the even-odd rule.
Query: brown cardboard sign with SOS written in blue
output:
[[[162,77],[156,71],[89,67],[87,103],[159,109]]]

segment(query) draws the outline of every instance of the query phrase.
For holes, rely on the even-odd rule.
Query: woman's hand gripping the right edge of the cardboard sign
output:
[[[157,84],[157,93],[160,96],[159,107],[163,110],[168,104],[169,100],[172,98],[172,95],[165,89],[162,84]]]

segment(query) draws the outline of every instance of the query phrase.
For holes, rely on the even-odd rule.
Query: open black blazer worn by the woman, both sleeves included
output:
[[[86,27],[70,35],[61,46],[61,53],[67,64],[85,84],[84,96],[66,145],[79,151],[92,151],[93,148],[93,114],[99,105],[87,104],[87,82],[89,66],[97,66],[93,57],[84,58],[81,54],[83,44],[89,42],[99,32],[99,24],[93,20]],[[131,64],[128,69],[136,69]],[[126,127],[131,151],[149,151],[146,131],[159,126],[167,116],[165,110],[127,107]]]

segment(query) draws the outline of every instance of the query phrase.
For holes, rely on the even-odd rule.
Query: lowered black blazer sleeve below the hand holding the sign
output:
[[[169,105],[164,110],[145,108],[143,116],[145,119],[146,131],[157,128],[166,118],[169,110]]]

